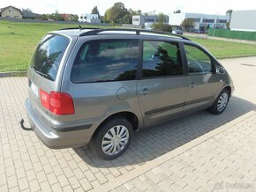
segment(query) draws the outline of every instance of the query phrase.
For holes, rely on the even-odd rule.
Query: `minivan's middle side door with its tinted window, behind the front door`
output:
[[[148,126],[182,112],[186,77],[177,42],[143,41],[142,45],[137,96]]]

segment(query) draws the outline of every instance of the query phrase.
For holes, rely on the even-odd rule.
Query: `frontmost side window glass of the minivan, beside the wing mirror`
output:
[[[189,74],[212,72],[212,62],[209,55],[191,45],[184,45]]]

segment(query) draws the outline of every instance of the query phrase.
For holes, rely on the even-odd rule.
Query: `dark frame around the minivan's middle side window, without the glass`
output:
[[[161,41],[161,42],[169,42],[169,43],[177,43],[180,51],[180,56],[181,56],[181,65],[182,65],[182,74],[181,75],[171,75],[171,76],[161,76],[161,77],[152,77],[152,78],[143,78],[142,77],[142,69],[143,69],[143,51],[144,51],[144,46],[143,43],[144,41]],[[144,80],[144,79],[155,79],[155,78],[177,78],[177,77],[184,77],[186,76],[185,74],[185,69],[184,69],[184,49],[183,45],[180,41],[173,41],[173,40],[154,40],[154,39],[143,39],[140,40],[139,43],[139,69],[137,70],[138,72],[138,78],[137,80]]]

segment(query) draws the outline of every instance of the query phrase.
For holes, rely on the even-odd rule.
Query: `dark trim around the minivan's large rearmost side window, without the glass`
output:
[[[135,78],[132,79],[132,80],[109,80],[109,81],[101,81],[101,82],[97,82],[97,81],[92,81],[92,82],[79,82],[79,83],[75,83],[72,81],[72,67],[73,67],[73,64],[75,63],[75,60],[76,60],[76,57],[77,55],[79,54],[79,51],[80,51],[80,48],[82,48],[83,46],[86,46],[86,44],[90,41],[138,41],[138,49],[139,48],[139,39],[136,39],[136,38],[122,38],[122,39],[116,39],[116,38],[110,38],[110,39],[94,39],[94,40],[89,40],[89,41],[84,41],[78,48],[78,51],[76,52],[76,54],[74,54],[74,61],[72,62],[72,66],[71,66],[71,70],[70,70],[70,75],[69,75],[69,79],[70,81],[72,82],[72,84],[74,85],[81,85],[81,84],[99,84],[99,83],[111,83],[111,82],[118,82],[118,81],[135,81],[137,80],[137,77],[138,77],[138,70],[139,70],[139,53],[138,53],[138,63],[137,63],[137,73],[135,75]]]

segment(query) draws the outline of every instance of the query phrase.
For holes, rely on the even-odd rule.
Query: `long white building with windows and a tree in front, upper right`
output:
[[[193,28],[197,30],[204,30],[209,25],[211,28],[226,28],[227,21],[230,20],[229,15],[208,15],[200,13],[172,13],[169,15],[169,25],[180,28],[185,18],[191,19],[193,22]],[[191,30],[192,30],[191,29]]]

